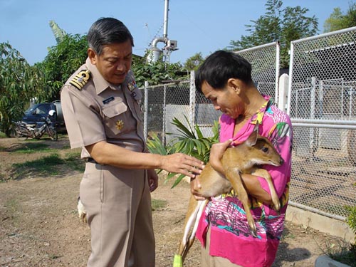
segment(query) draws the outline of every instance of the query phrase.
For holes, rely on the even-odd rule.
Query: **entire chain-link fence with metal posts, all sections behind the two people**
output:
[[[356,205],[355,40],[356,27],[293,41],[290,47],[287,111],[294,132],[290,204],[340,220],[347,215],[346,205]],[[251,63],[258,90],[278,103],[279,44],[238,53]],[[155,132],[167,144],[167,132],[177,132],[171,123],[174,117],[184,123],[187,118],[211,136],[221,113],[195,91],[194,73],[191,76],[141,89],[146,137]]]

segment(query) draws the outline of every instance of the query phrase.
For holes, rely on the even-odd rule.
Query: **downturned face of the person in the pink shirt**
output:
[[[233,86],[226,85],[221,90],[216,90],[204,81],[201,85],[201,91],[206,98],[211,100],[215,110],[220,110],[234,119],[243,114],[244,105],[239,97],[239,93],[237,93]]]

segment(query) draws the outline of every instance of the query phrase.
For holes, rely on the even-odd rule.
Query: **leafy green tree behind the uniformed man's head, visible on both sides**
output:
[[[77,70],[88,57],[88,42],[85,35],[64,35],[63,40],[49,48],[45,60],[36,66],[45,75],[45,86],[41,94],[36,95],[40,101],[52,101],[60,98],[60,91],[66,80]],[[179,63],[169,64],[157,61],[146,63],[146,57],[133,56],[132,71],[139,87],[148,80],[151,85],[162,83],[162,80],[176,80],[177,70],[182,70]]]

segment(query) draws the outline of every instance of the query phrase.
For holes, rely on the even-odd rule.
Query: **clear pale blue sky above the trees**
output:
[[[352,0],[283,0],[283,7],[309,9],[307,16],[323,24],[340,7],[346,13]],[[246,24],[266,13],[266,0],[170,0],[167,36],[177,41],[171,63],[184,63],[201,53],[209,56],[249,35]],[[101,17],[120,19],[132,33],[133,53],[143,56],[152,40],[163,36],[164,0],[0,0],[0,43],[9,42],[30,65],[41,62],[56,46],[49,21],[70,34],[86,34]],[[157,44],[158,48],[163,43]]]

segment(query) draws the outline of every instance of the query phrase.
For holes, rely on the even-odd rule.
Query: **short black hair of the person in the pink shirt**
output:
[[[216,89],[222,89],[229,78],[252,83],[251,64],[239,54],[229,51],[216,51],[206,58],[195,75],[195,87],[201,92],[201,85],[206,81]]]

